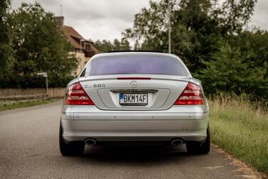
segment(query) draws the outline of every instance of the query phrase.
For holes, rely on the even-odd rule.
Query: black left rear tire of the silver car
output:
[[[75,142],[75,143],[66,143],[63,140],[63,130],[62,126],[60,124],[59,129],[59,146],[61,155],[63,156],[80,156],[83,154],[83,151],[85,149],[85,145],[83,142]]]

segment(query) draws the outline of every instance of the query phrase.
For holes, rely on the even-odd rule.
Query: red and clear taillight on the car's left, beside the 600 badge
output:
[[[67,105],[94,105],[80,83],[71,85],[65,95]]]

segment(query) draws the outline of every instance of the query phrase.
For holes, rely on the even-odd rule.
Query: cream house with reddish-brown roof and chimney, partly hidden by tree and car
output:
[[[91,40],[86,40],[83,38],[74,28],[71,26],[65,26],[63,16],[57,16],[56,21],[58,21],[58,25],[63,31],[64,35],[68,38],[68,41],[71,43],[71,45],[73,45],[74,51],[70,53],[73,53],[79,62],[75,72],[76,75],[79,75],[88,60],[90,60],[93,55],[98,53],[98,49],[94,47]]]

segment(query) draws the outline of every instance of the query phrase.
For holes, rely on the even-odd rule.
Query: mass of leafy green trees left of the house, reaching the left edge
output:
[[[65,87],[73,79],[77,60],[73,47],[52,13],[40,4],[21,4],[11,11],[10,1],[0,3],[0,88]]]

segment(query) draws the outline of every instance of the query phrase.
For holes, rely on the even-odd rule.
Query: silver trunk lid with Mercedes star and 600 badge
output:
[[[99,75],[80,77],[79,81],[99,109],[165,110],[172,107],[190,79],[175,75]],[[147,104],[122,104],[123,94],[137,98],[144,94]]]

